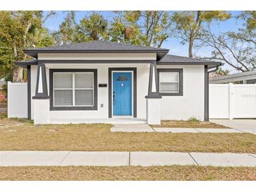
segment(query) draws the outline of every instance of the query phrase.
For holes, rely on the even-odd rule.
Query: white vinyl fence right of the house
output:
[[[256,118],[256,84],[210,84],[210,118]]]

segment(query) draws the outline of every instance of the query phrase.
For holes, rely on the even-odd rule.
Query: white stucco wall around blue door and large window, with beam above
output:
[[[130,56],[129,56],[130,55]],[[70,56],[70,57],[69,57]],[[63,54],[41,54],[39,55],[41,60],[156,60],[156,54],[151,53],[142,53],[142,54],[72,54],[72,55],[63,55]],[[97,69],[97,83],[107,83],[108,84],[108,74],[109,67],[137,67],[137,118],[146,118],[146,99],[148,91],[148,82],[149,82],[149,63],[129,63],[118,64],[118,63],[108,63],[108,64],[90,64],[90,63],[69,63],[69,64],[46,64],[46,78],[49,89],[49,69]],[[32,96],[35,94],[36,90],[36,73],[37,67],[32,66],[31,69],[31,91]],[[88,111],[49,111],[50,119],[59,119],[59,118],[108,118],[108,88],[98,88],[97,87],[97,110],[88,110]],[[103,104],[103,107],[100,107]],[[34,104],[32,102],[32,119],[34,118]]]

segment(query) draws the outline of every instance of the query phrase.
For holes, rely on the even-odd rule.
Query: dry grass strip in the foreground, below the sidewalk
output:
[[[256,167],[0,167],[0,180],[256,180]]]

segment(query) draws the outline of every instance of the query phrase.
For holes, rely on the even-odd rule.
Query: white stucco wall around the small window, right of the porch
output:
[[[166,66],[157,68],[183,69],[183,96],[163,96],[161,99],[162,120],[187,120],[204,118],[204,66]]]

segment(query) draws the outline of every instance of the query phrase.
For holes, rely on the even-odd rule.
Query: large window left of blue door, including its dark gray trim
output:
[[[50,109],[97,109],[97,73],[93,69],[50,69]]]

